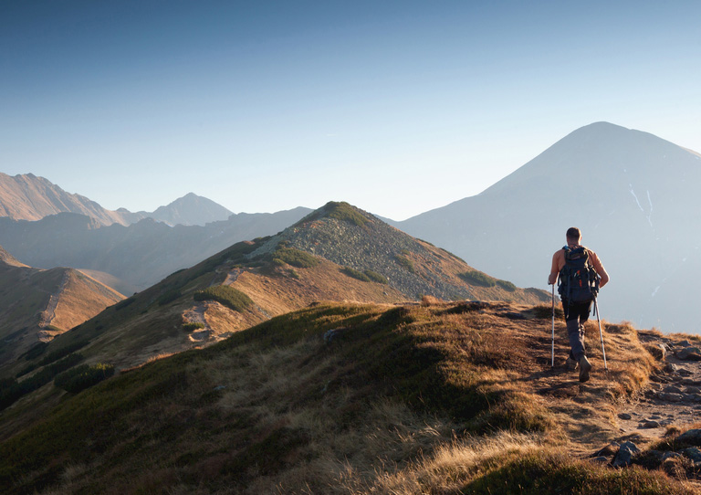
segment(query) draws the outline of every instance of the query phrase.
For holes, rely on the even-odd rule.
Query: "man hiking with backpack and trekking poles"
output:
[[[584,348],[584,322],[589,319],[591,302],[597,292],[608,283],[609,274],[596,253],[581,246],[579,228],[568,228],[566,237],[567,246],[552,255],[548,284],[552,285],[560,279],[558,293],[565,312],[571,348],[567,366],[575,370],[579,365],[580,382],[586,382],[589,380],[591,363]]]

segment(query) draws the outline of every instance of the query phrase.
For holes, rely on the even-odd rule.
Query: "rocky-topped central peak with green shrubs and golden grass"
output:
[[[98,232],[108,228],[117,226]],[[351,205],[330,203],[275,236],[240,242],[174,272],[51,342],[49,350],[82,342],[87,358],[128,368],[218,342],[319,300],[395,303],[424,296],[549,300],[543,290],[493,279]]]

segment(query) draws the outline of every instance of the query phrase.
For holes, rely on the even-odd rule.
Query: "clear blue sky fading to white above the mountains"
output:
[[[701,152],[701,2],[6,0],[0,172],[403,220],[595,121]]]

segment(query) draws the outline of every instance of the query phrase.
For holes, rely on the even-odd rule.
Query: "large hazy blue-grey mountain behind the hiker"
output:
[[[701,157],[646,132],[598,122],[570,133],[479,195],[395,225],[519,285],[547,288],[570,226],[612,282],[608,320],[701,332]]]

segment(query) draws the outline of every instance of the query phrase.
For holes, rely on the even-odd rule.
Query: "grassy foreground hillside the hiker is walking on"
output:
[[[319,304],[83,392],[47,384],[45,396],[60,395],[52,409],[33,416],[18,403],[0,413],[0,486],[57,495],[698,493],[694,448],[653,468],[651,447],[688,446],[679,432],[689,416],[665,444],[621,434],[618,414],[662,369],[638,332],[605,325],[609,371],[592,346],[595,369],[580,384],[563,366],[560,321],[550,370],[549,310]],[[642,449],[636,466],[612,469],[630,439]]]

